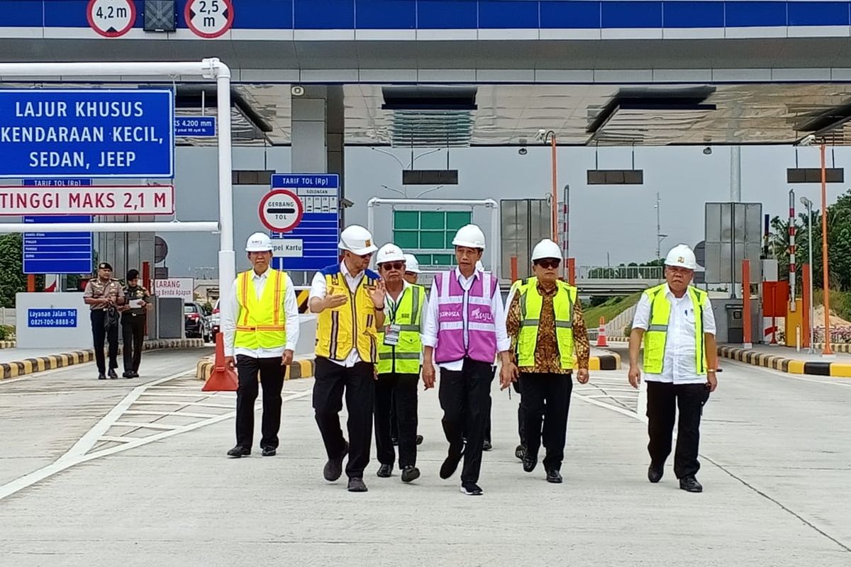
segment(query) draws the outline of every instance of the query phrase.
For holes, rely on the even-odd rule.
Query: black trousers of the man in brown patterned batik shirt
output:
[[[548,471],[559,470],[562,468],[564,442],[568,434],[573,378],[565,374],[528,372],[520,375],[520,385],[523,388],[520,405],[526,418],[526,454],[538,456],[543,435],[546,449],[544,468]]]

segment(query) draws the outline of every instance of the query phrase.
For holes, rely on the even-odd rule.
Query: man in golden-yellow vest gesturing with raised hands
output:
[[[318,314],[313,409],[328,454],[323,477],[339,479],[348,454],[350,492],[367,491],[363,470],[372,445],[376,336],[385,319],[384,282],[367,269],[377,249],[363,226],[346,227],[340,233],[342,261],[317,272],[309,299],[311,313]],[[340,429],[344,390],[351,447]]]

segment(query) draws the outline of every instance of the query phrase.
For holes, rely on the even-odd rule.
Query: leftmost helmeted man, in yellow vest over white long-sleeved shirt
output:
[[[237,276],[221,320],[225,363],[236,366],[239,377],[237,445],[227,451],[228,456],[235,458],[251,454],[258,373],[263,384],[260,448],[263,456],[274,456],[277,452],[283,378],[299,342],[299,304],[293,281],[269,267],[272,258],[269,235],[256,232],[249,236],[245,251],[253,269]]]

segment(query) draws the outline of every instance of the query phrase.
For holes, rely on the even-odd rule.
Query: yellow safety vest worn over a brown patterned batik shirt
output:
[[[574,304],[576,288],[563,281],[556,282],[557,291],[552,298],[556,322],[558,358],[563,369],[574,367]],[[530,278],[517,289],[520,293],[520,332],[517,337],[517,366],[534,366],[534,351],[538,345],[538,324],[544,298],[538,292],[538,282]]]

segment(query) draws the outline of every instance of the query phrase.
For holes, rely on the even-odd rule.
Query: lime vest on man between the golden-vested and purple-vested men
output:
[[[423,286],[406,286],[396,303],[396,310],[389,311],[385,325],[399,326],[399,341],[396,345],[384,343],[386,326],[378,332],[378,373],[420,373],[420,311],[426,299]]]

